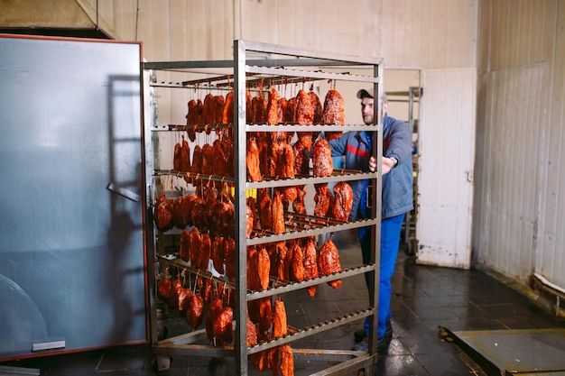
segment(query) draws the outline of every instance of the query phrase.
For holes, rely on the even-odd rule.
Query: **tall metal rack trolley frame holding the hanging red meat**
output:
[[[267,54],[268,59],[250,60],[249,56],[256,56],[256,53]],[[335,73],[323,69],[373,69],[372,76],[353,75],[350,73]],[[371,83],[374,85],[375,92],[382,95],[382,78],[383,69],[381,60],[376,59],[360,59],[350,56],[338,56],[331,53],[314,52],[310,50],[298,50],[279,45],[257,43],[251,41],[234,41],[234,60],[214,60],[214,61],[171,61],[171,62],[144,62],[144,88],[149,90],[151,87],[195,87],[203,82],[213,82],[216,87],[233,87],[234,89],[234,153],[235,153],[235,179],[227,179],[225,177],[208,176],[199,174],[198,179],[211,179],[221,181],[231,181],[235,187],[235,223],[236,223],[236,281],[226,283],[229,288],[236,291],[236,309],[234,310],[235,320],[235,336],[233,347],[218,348],[206,344],[195,344],[199,339],[206,335],[205,329],[199,329],[178,335],[164,340],[159,340],[157,329],[157,292],[154,288],[156,286],[156,272],[159,268],[159,263],[165,262],[171,265],[180,265],[184,270],[196,272],[190,269],[181,260],[167,260],[161,257],[157,251],[158,244],[156,242],[156,229],[153,225],[153,200],[155,198],[155,191],[153,183],[148,183],[147,186],[147,248],[149,257],[149,271],[148,278],[150,280],[150,321],[151,321],[151,341],[153,345],[153,353],[155,353],[155,371],[167,371],[171,366],[171,355],[190,355],[190,356],[235,356],[238,375],[248,374],[248,358],[247,355],[258,353],[266,349],[270,349],[282,344],[289,344],[297,339],[319,334],[323,331],[335,328],[337,326],[345,325],[353,321],[370,318],[370,335],[369,335],[369,351],[368,352],[355,352],[355,351],[332,351],[332,350],[309,350],[309,349],[293,349],[293,354],[296,356],[312,356],[319,361],[336,361],[337,365],[330,367],[320,373],[325,375],[343,375],[352,371],[357,371],[366,367],[371,369],[376,360],[376,320],[378,309],[378,263],[380,252],[375,244],[380,243],[380,207],[381,207],[381,181],[377,179],[376,172],[361,172],[361,171],[347,171],[337,170],[334,171],[333,176],[325,178],[316,178],[313,176],[301,176],[296,179],[265,179],[260,182],[248,182],[246,180],[245,168],[245,145],[246,133],[248,132],[295,132],[303,131],[303,125],[292,124],[279,124],[279,125],[265,125],[265,124],[246,124],[245,122],[245,90],[259,81],[264,80],[279,80],[278,82],[302,82],[305,79],[327,79],[336,81],[354,81],[359,83]],[[218,69],[233,69],[231,74],[218,75]],[[150,72],[153,70],[170,70],[170,71],[184,71],[199,73],[205,71],[208,73],[208,78],[202,80],[185,81],[180,84],[165,84],[150,82]],[[145,107],[145,133],[146,144],[145,154],[147,164],[147,181],[152,182],[155,176],[162,174],[171,174],[177,176],[190,176],[189,173],[183,173],[172,170],[155,170],[153,166],[153,144],[150,140],[153,139],[152,133],[163,130],[162,126],[153,126],[151,113],[151,97],[148,95],[148,90],[144,90],[144,107]],[[381,114],[382,105],[377,101],[377,116],[375,116],[374,125],[308,125],[310,132],[324,132],[324,131],[358,131],[365,130],[367,132],[375,133],[375,140],[373,142],[374,155],[380,157],[382,155],[382,132],[381,130]],[[154,116],[153,116],[154,118]],[[164,127],[166,130],[179,130],[183,129],[181,125],[169,125]],[[378,166],[377,170],[381,170],[381,158],[376,158]],[[316,218],[313,216],[304,216],[298,218],[292,212],[287,213],[287,216],[293,216],[300,222],[301,227],[293,228],[292,231],[287,231],[284,234],[264,234],[255,236],[250,239],[246,238],[245,234],[245,190],[250,188],[273,188],[273,187],[288,187],[295,185],[305,184],[319,184],[328,183],[340,180],[355,180],[355,179],[372,179],[375,189],[373,189],[373,217],[365,220],[358,220],[353,222],[347,221],[330,221],[327,218]],[[288,218],[287,218],[288,219]],[[323,225],[315,225],[320,222],[320,219],[325,220]],[[289,219],[289,220],[292,220]],[[289,239],[302,238],[312,235],[327,234],[342,230],[355,229],[362,226],[372,226],[373,244],[375,252],[372,255],[371,263],[367,265],[360,265],[355,268],[340,271],[338,273],[323,276],[313,280],[304,280],[301,282],[285,282],[272,285],[269,289],[261,291],[252,291],[247,289],[246,286],[246,247],[253,244],[272,243],[277,241],[284,241]],[[246,310],[247,302],[265,297],[273,297],[275,295],[284,294],[289,291],[297,289],[305,289],[310,286],[320,285],[327,283],[331,280],[347,279],[348,277],[356,276],[369,272],[372,277],[372,289],[370,289],[369,307],[366,309],[351,312],[346,316],[339,316],[331,318],[319,325],[309,326],[305,328],[293,328],[289,335],[282,338],[277,338],[272,341],[256,344],[247,347],[246,343]],[[199,275],[206,278],[216,279],[212,274],[199,271]]]

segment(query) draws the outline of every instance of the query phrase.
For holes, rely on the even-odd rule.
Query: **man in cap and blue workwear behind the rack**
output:
[[[361,89],[357,92],[361,99],[361,111],[365,124],[374,124],[373,89]],[[379,310],[377,326],[377,352],[384,353],[393,338],[391,326],[391,277],[394,272],[396,256],[400,245],[400,235],[404,214],[413,209],[412,197],[412,133],[410,127],[400,120],[386,114],[388,101],[383,101],[383,160],[382,160],[382,207],[381,207],[381,255],[379,275]],[[373,151],[373,133],[364,131],[347,132],[340,138],[331,140],[329,146],[332,156],[345,155],[345,169],[375,171],[376,160]],[[371,216],[371,207],[367,202],[367,180],[349,183],[354,193],[353,208],[349,220]],[[359,242],[363,253],[363,262],[371,257],[370,227],[358,229]],[[369,287],[369,275],[366,273]],[[353,350],[367,351],[369,333],[368,319],[365,330],[356,332],[357,344]]]

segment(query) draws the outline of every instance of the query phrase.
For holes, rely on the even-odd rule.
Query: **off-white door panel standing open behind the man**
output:
[[[476,69],[422,71],[417,261],[468,269],[477,104]]]

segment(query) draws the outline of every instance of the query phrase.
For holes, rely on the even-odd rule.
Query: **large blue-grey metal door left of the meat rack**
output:
[[[41,316],[0,297],[0,358],[146,341],[140,54],[0,38],[0,276]]]

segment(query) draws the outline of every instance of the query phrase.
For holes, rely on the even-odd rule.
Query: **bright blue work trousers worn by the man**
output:
[[[379,269],[379,306],[377,337],[381,338],[386,330],[386,323],[390,321],[391,311],[391,278],[393,277],[398,247],[400,246],[400,233],[403,227],[404,215],[393,216],[381,221],[381,261]],[[371,260],[371,231],[370,227],[359,228],[359,243],[363,252],[363,262]],[[365,273],[367,289],[369,289],[369,273]],[[369,289],[370,290],[370,289]],[[365,332],[369,334],[368,317],[365,321]]]

